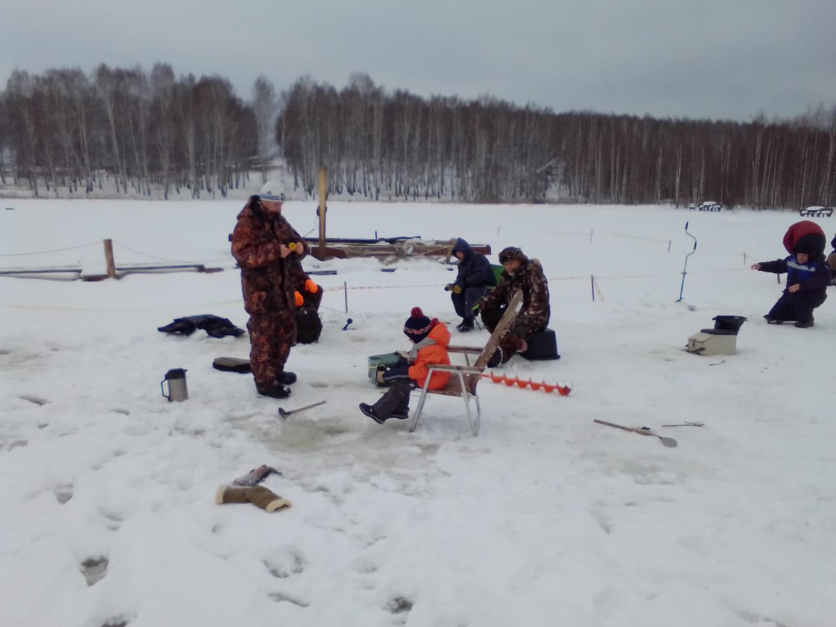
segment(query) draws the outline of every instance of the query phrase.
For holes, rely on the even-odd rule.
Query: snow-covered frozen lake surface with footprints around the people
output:
[[[240,201],[4,203],[5,268],[100,272],[110,237],[117,265],[225,271],[0,277],[3,627],[836,624],[836,303],[813,329],[767,326],[783,286],[748,269],[785,255],[797,214],[329,203],[332,237],[461,236],[494,262],[507,245],[543,262],[563,359],[500,371],[573,392],[485,380],[474,438],[458,399],[431,397],[413,434],[357,410],[380,391],[366,357],[405,348],[411,307],[456,324],[444,265],[308,259],[338,274],[317,277],[324,333],[293,349],[299,381],[277,401],[212,369],[246,357],[246,336],[156,331],[194,314],[246,324],[227,242]],[[286,206],[299,232],[314,213]],[[676,303],[686,221],[699,244]],[[829,239],[836,222],[820,222]],[[749,317],[737,355],[684,352],[716,314]],[[186,402],[161,397],[171,368],[188,370]],[[685,421],[705,426],[661,427]],[[262,463],[292,508],[213,502]]]

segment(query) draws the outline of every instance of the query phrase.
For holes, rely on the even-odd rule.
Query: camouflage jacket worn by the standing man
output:
[[[291,252],[282,258],[279,246],[301,242],[281,214],[265,212],[252,196],[241,213],[232,232],[232,257],[241,267],[241,288],[247,314],[275,314],[283,309],[295,309],[293,291],[302,272],[302,255]],[[306,247],[307,248],[307,247]]]

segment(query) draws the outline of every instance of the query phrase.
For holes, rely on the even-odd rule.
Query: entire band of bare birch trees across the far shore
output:
[[[266,170],[273,141],[312,195],[326,166],[330,191],[374,199],[836,204],[836,106],[746,124],[555,114],[389,93],[366,74],[342,90],[298,79],[280,98],[259,77],[244,102],[226,79],[166,64],[15,71],[0,93],[0,176],[36,193],[112,177],[120,191],[225,194]]]

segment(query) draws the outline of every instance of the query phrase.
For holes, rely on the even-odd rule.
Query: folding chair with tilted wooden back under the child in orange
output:
[[[477,395],[477,384],[482,378],[482,373],[487,368],[487,362],[491,359],[494,352],[497,350],[502,338],[507,334],[508,329],[517,317],[517,313],[523,304],[523,290],[518,289],[517,293],[508,304],[505,314],[502,315],[496,329],[493,329],[491,337],[487,339],[484,348],[471,346],[448,346],[447,352],[461,353],[465,356],[466,365],[446,365],[446,364],[431,364],[430,371],[426,375],[424,387],[421,388],[421,399],[418,400],[418,406],[415,408],[415,413],[410,418],[410,433],[415,431],[418,426],[418,421],[421,420],[421,411],[424,409],[424,403],[428,394],[437,394],[443,396],[459,396],[465,401],[465,410],[467,412],[467,423],[470,425],[471,433],[474,436],[479,435],[479,424],[482,420],[482,407],[479,405],[479,396]],[[476,361],[471,365],[470,355],[478,355]],[[450,380],[447,381],[441,390],[429,390],[430,379],[433,372],[449,372]],[[476,415],[471,409],[471,399],[476,401]]]

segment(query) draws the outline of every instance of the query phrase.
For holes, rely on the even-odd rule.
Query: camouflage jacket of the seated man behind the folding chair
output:
[[[511,302],[517,289],[523,290],[523,308],[515,324],[525,324],[529,329],[545,329],[551,309],[548,306],[548,280],[543,266],[537,259],[526,260],[513,275],[502,271],[499,285],[482,302],[482,310],[500,307]]]

